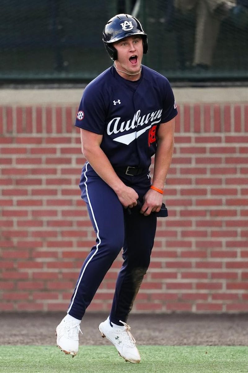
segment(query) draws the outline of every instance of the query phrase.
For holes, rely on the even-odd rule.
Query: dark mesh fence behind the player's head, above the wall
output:
[[[247,80],[247,0],[2,0],[0,81],[90,81],[112,63],[102,30],[122,12],[148,34],[143,63],[171,81]]]

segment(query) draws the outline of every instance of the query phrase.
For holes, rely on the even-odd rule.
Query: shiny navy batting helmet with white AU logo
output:
[[[117,50],[112,43],[132,35],[142,36],[143,53],[147,53],[147,35],[137,18],[129,14],[117,14],[107,22],[103,30],[103,43],[113,61],[117,60]]]

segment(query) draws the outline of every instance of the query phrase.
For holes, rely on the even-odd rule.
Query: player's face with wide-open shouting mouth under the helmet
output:
[[[130,73],[139,72],[143,57],[143,42],[140,35],[133,35],[113,43],[117,50],[115,65]],[[125,76],[127,78],[127,76]]]

